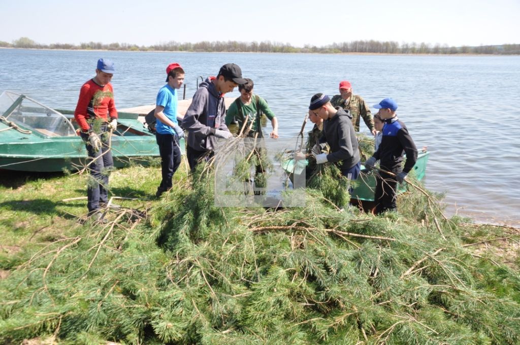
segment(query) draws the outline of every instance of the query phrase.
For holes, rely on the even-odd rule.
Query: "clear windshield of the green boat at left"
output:
[[[63,114],[16,92],[4,91],[0,95],[0,114],[7,121],[47,137],[76,135],[74,126]]]

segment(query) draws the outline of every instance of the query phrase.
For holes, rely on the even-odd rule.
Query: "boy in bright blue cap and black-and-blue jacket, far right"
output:
[[[365,166],[370,171],[374,168],[375,162],[380,160],[381,169],[394,174],[392,176],[380,171],[376,176],[375,213],[381,214],[385,211],[397,211],[397,182],[404,182],[408,172],[417,162],[417,149],[405,124],[397,118],[396,101],[392,98],[385,98],[373,107],[379,109],[379,117],[384,123],[383,138],[378,150],[368,158]],[[406,164],[402,168],[402,156],[405,152]]]

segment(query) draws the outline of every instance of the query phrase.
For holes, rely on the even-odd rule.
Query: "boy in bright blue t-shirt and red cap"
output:
[[[162,181],[157,188],[156,197],[172,188],[172,177],[180,165],[179,139],[184,138],[184,131],[177,122],[177,89],[184,83],[184,70],[180,64],[170,63],[166,68],[166,85],[157,94],[154,116],[155,139],[161,155]]]

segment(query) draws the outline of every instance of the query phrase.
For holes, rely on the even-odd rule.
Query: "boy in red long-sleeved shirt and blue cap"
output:
[[[109,146],[109,129],[114,130],[118,126],[118,111],[110,84],[114,72],[112,61],[99,59],[96,76],[81,87],[74,111],[88,157],[93,161],[88,165],[94,183],[87,185],[87,208],[89,216],[95,220],[101,220],[99,208],[108,204],[108,173],[114,165]],[[111,207],[119,205],[111,204]]]

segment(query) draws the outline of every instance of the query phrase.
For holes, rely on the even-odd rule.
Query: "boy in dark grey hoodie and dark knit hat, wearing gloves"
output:
[[[343,108],[332,107],[325,94],[316,94],[310,99],[309,115],[311,113],[324,120],[320,143],[327,142],[330,147],[330,153],[315,155],[316,163],[337,162],[343,176],[357,179],[361,165],[352,117]]]

